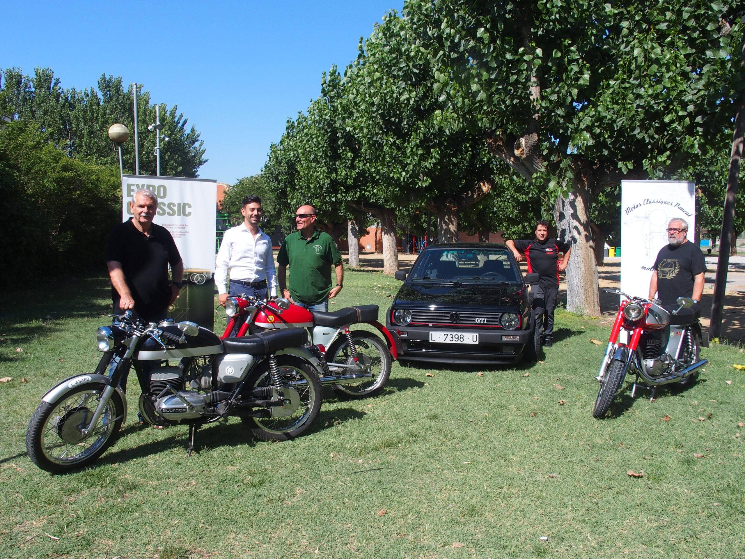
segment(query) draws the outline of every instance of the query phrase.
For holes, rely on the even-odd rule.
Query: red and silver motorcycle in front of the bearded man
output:
[[[626,300],[618,309],[600,372],[595,377],[600,381],[600,391],[592,415],[605,416],[629,371],[636,375],[632,398],[637,388],[651,389],[654,398],[660,385],[685,386],[693,382],[700,367],[708,363],[700,359],[702,345],[708,347],[708,336],[701,330],[699,309],[679,312],[690,309],[694,301],[678,297],[678,309],[668,311],[658,301],[632,297],[620,289],[603,291],[623,295]]]

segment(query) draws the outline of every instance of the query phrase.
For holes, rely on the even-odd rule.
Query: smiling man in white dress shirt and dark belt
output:
[[[247,294],[266,299],[276,297],[277,279],[272,241],[261,231],[261,198],[250,195],[241,205],[243,223],[225,232],[215,264],[215,285],[221,305],[228,297]],[[230,268],[230,290],[226,282]]]

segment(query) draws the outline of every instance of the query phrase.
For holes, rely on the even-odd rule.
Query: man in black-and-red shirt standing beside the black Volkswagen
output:
[[[548,239],[548,221],[536,223],[536,239],[507,241],[507,247],[513,251],[515,259],[522,262],[525,254],[527,271],[536,272],[540,279],[530,288],[533,291],[533,313],[536,316],[536,328],[543,329],[543,344],[551,347],[554,341],[554,309],[559,293],[559,272],[565,270],[571,247],[557,239]],[[564,257],[559,262],[559,253]]]

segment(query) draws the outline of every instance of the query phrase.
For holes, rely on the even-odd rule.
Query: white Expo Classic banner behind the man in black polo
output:
[[[152,190],[158,196],[153,223],[171,232],[184,268],[214,272],[217,181],[125,174],[121,177],[122,221],[132,217],[129,202],[138,189]]]

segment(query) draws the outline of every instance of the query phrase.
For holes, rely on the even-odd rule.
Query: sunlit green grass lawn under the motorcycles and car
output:
[[[348,271],[331,308],[376,303],[384,321],[399,285]],[[612,417],[594,420],[609,324],[559,312],[544,362],[394,362],[379,397],[326,391],[302,438],[254,440],[231,418],[200,429],[191,458],[186,426],[137,426],[133,378],[121,438],[93,467],[50,476],[25,455],[26,426],[55,382],[95,367],[108,297],[103,278],[3,294],[0,377],[13,380],[0,383],[0,557],[745,554],[738,347],[703,350],[711,363],[687,391],[650,402],[627,386]]]

